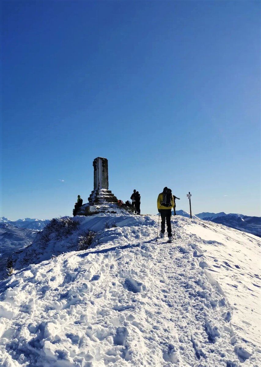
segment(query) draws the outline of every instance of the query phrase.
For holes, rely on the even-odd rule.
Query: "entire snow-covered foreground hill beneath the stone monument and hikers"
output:
[[[260,366],[260,239],[178,215],[169,244],[157,225],[57,219],[14,254],[0,282],[1,366]]]

